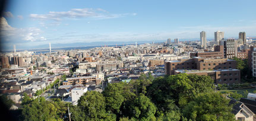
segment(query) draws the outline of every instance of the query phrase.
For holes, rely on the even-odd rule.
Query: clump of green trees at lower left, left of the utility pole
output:
[[[67,114],[68,104],[59,99],[46,101],[43,97],[33,100],[24,93],[22,106],[22,120],[62,120]]]

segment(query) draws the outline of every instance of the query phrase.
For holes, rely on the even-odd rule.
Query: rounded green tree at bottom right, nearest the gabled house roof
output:
[[[235,120],[229,99],[220,93],[201,93],[184,107],[183,113],[192,120]]]

